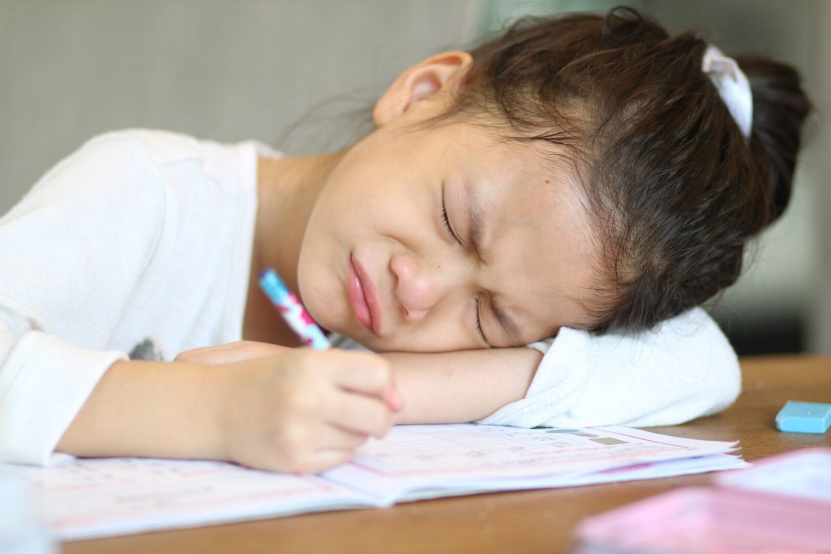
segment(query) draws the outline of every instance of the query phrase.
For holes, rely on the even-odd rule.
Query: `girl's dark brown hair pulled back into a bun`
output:
[[[810,108],[799,74],[732,56],[753,94],[746,140],[701,70],[706,47],[629,7],[524,17],[470,52],[440,116],[498,115],[508,140],[573,152],[602,243],[595,331],[641,331],[713,297],[788,203]]]

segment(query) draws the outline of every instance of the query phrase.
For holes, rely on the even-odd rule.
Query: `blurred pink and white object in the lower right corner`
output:
[[[831,502],[821,492],[829,478],[831,449],[766,458],[724,473],[720,487],[677,488],[588,517],[577,528],[576,552],[831,552]]]

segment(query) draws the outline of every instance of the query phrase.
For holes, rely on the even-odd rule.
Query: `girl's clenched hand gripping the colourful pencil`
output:
[[[281,348],[234,364],[224,416],[226,455],[279,472],[347,462],[391,428],[401,396],[389,363],[368,352]]]

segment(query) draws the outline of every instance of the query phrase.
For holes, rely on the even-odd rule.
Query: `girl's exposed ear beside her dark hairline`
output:
[[[438,92],[458,90],[472,65],[473,57],[465,51],[446,51],[420,61],[401,73],[376,102],[375,125],[396,119],[418,101],[438,101]]]

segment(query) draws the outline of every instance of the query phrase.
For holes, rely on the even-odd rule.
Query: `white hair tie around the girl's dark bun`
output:
[[[730,110],[735,122],[739,125],[741,134],[750,138],[750,125],[753,123],[753,94],[750,92],[750,81],[739,68],[739,64],[725,56],[718,48],[710,45],[704,52],[701,61],[701,71],[719,90],[721,100]]]

